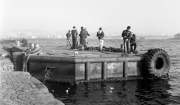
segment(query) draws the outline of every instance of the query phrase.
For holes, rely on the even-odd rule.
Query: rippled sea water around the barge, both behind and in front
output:
[[[65,39],[31,39],[40,46],[62,46]],[[105,46],[119,47],[122,40],[107,39]],[[138,50],[162,48],[171,59],[169,80],[135,80],[123,82],[67,85],[45,82],[49,91],[66,105],[180,105],[180,40],[138,41]],[[89,39],[89,46],[98,46]]]

